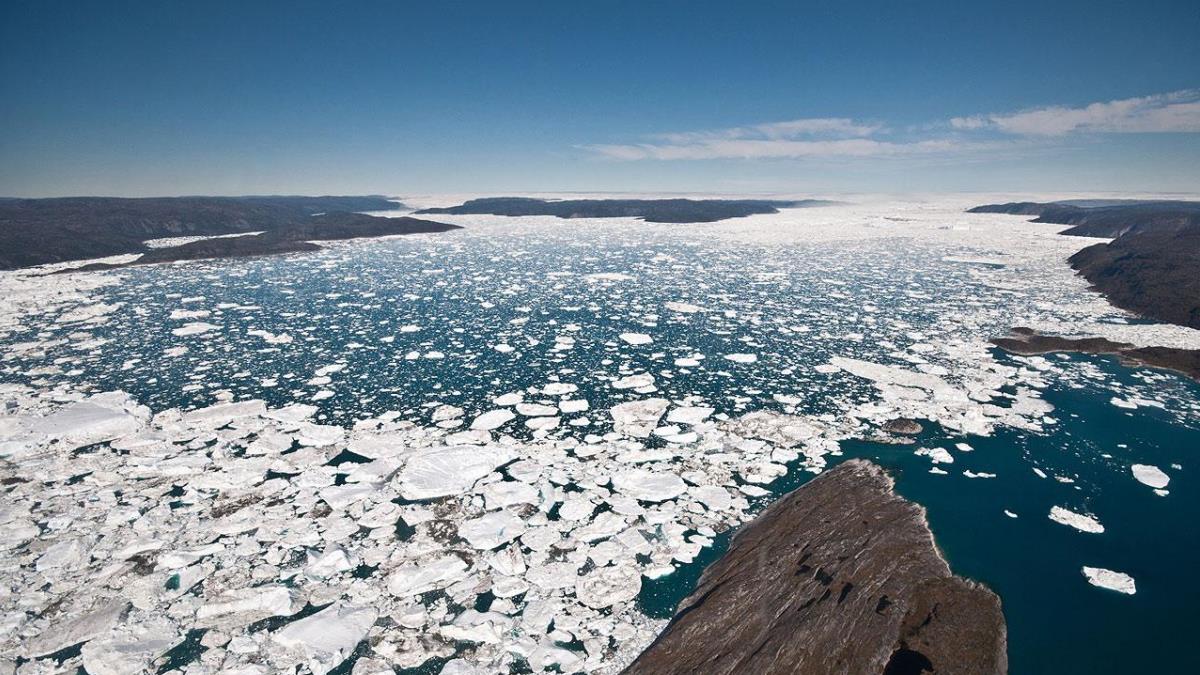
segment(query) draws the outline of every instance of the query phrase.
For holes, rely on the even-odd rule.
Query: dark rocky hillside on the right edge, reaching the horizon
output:
[[[1112,237],[1070,257],[1114,305],[1158,321],[1200,328],[1200,202],[989,204],[973,213],[1037,215],[1072,225],[1063,234]]]

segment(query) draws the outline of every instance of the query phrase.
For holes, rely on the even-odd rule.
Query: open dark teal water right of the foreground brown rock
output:
[[[1070,360],[1092,364],[1116,380],[1132,375],[1110,358],[1072,356]],[[1186,386],[1200,396],[1200,386]],[[1187,470],[1200,450],[1200,429],[1180,425],[1157,410],[1116,408],[1110,395],[1097,387],[1052,387],[1046,399],[1062,417],[1054,434],[972,436],[974,450],[956,453],[953,465],[943,465],[948,476],[930,473],[929,459],[912,453],[917,446],[847,441],[844,456],[830,462],[869,458],[889,471],[901,495],[926,508],[954,572],[1000,595],[1012,673],[1194,669],[1200,492],[1187,471],[1171,471],[1170,494],[1159,497],[1133,479],[1128,465],[1178,462]],[[961,436],[928,423],[917,437],[917,444],[926,447],[948,448],[960,441]],[[1128,447],[1120,448],[1121,443]],[[1031,466],[1075,483],[1039,478]],[[964,470],[997,476],[966,478]],[[792,472],[772,491],[786,494],[812,477]],[[1105,532],[1088,534],[1051,521],[1046,514],[1054,506],[1094,513]],[[1006,515],[1006,509],[1018,518]],[[638,598],[643,610],[670,617],[695,587],[703,566],[716,560],[727,543],[726,533],[695,565],[646,584]],[[1133,575],[1136,595],[1091,586],[1080,572],[1085,565]]]

